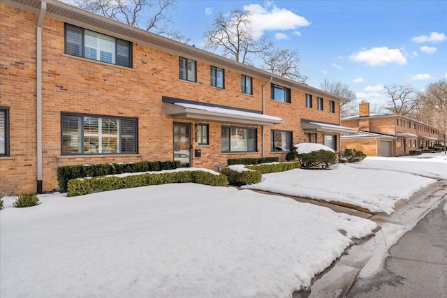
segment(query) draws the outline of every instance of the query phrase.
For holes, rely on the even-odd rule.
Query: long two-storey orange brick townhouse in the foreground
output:
[[[0,4],[0,191],[57,187],[57,167],[339,149],[324,91],[59,1]]]

